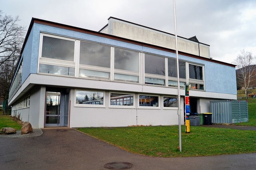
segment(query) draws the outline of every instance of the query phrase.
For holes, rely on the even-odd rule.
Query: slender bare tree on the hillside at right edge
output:
[[[256,80],[256,58],[252,56],[249,51],[241,50],[241,53],[237,55],[234,60],[234,64],[237,65],[236,79],[237,84],[244,89],[245,97],[248,98],[248,88],[252,86],[252,83]]]

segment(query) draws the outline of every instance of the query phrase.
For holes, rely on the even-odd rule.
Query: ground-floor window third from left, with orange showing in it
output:
[[[139,107],[159,107],[159,96],[139,95]]]

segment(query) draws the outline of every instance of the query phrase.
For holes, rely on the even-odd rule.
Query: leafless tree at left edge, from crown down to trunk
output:
[[[2,15],[0,10],[0,95],[5,99],[24,42],[25,30],[18,21],[18,16]]]

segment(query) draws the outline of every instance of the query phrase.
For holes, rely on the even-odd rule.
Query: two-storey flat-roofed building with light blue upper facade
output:
[[[235,65],[178,37],[181,103],[236,99]],[[175,36],[110,17],[99,32],[32,18],[12,79],[12,115],[32,127],[178,125]]]

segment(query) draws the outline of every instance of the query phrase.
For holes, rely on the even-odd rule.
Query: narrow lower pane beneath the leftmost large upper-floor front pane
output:
[[[62,67],[57,65],[39,64],[39,73],[49,73],[57,75],[75,75],[75,68]]]

